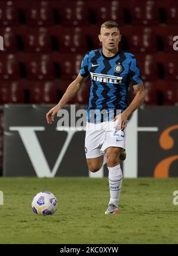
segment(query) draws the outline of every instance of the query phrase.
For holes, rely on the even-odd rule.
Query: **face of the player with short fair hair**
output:
[[[100,39],[100,42],[102,42],[103,47],[106,48],[108,51],[117,49],[121,39],[121,35],[117,27],[112,27],[112,29],[102,27],[101,35],[99,35],[98,37]]]

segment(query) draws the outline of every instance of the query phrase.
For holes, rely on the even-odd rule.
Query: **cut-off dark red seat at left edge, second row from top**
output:
[[[0,28],[0,35],[4,39],[4,52],[16,52],[17,41],[11,27]]]

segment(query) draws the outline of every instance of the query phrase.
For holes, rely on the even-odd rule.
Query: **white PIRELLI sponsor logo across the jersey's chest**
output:
[[[91,78],[96,82],[102,82],[102,83],[121,83],[122,77],[121,76],[110,76],[109,74],[98,74],[98,73],[92,73]]]

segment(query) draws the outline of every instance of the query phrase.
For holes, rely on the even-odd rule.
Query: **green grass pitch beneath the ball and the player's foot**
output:
[[[106,215],[107,179],[0,178],[0,243],[177,243],[178,179],[124,179],[120,214]],[[33,196],[50,191],[58,199],[53,216],[37,216]]]

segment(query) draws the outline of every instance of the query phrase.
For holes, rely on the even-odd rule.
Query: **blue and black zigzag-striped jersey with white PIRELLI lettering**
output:
[[[118,51],[105,57],[102,49],[88,52],[81,63],[80,74],[90,77],[89,110],[125,110],[129,84],[142,83],[138,63],[133,54]]]

